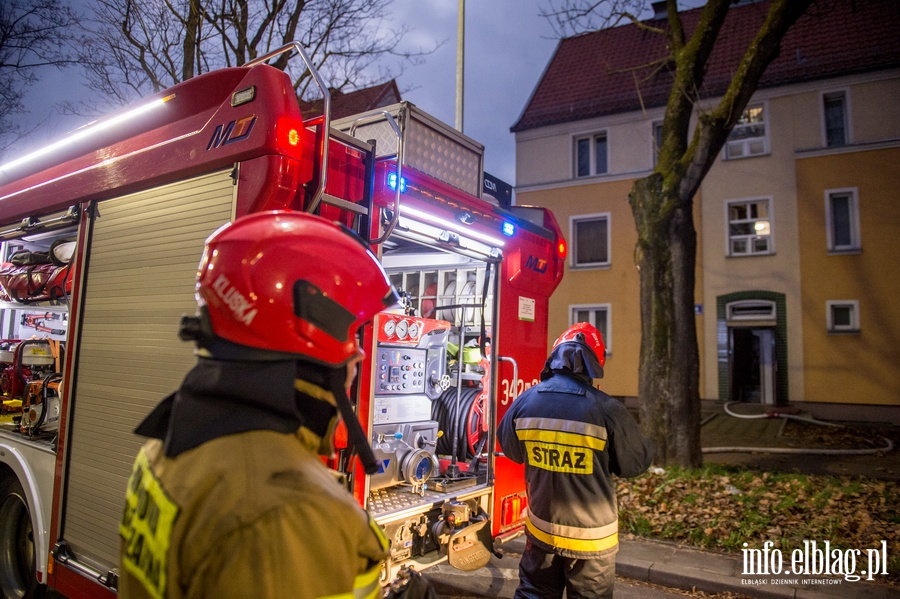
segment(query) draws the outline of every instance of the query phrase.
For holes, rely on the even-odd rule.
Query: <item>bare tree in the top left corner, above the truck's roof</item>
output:
[[[0,152],[27,133],[14,117],[28,112],[24,94],[38,74],[71,64],[65,40],[75,20],[59,0],[0,2]]]

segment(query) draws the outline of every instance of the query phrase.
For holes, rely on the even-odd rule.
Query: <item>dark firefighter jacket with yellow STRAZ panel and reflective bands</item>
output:
[[[643,473],[653,445],[623,404],[589,379],[554,371],[503,416],[503,452],[525,463],[525,534],[541,549],[589,559],[618,549],[612,474]]]

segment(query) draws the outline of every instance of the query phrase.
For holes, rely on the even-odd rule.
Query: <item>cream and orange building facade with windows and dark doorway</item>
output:
[[[882,18],[900,14],[889,12]],[[803,43],[831,35],[821,22],[809,31]],[[597,324],[610,346],[603,388],[628,397],[640,306],[627,197],[653,170],[663,107],[548,117],[542,90],[577,79],[574,65],[559,64],[574,62],[566,44],[581,45],[573,56],[603,47],[582,38],[561,42],[513,127],[516,203],[551,208],[569,243],[548,341],[579,320]],[[703,181],[694,199],[703,399],[900,406],[900,69],[881,59],[761,86]]]

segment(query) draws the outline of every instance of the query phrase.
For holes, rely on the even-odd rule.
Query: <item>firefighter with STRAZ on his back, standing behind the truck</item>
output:
[[[498,430],[503,452],[525,464],[525,551],[514,597],[612,597],[618,511],[612,475],[643,473],[653,444],[623,404],[593,387],[606,347],[594,326],[566,330],[541,382],[510,406]]]

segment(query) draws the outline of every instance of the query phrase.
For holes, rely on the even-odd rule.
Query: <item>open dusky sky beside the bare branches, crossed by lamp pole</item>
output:
[[[0,0],[2,1],[2,0]],[[557,41],[539,0],[467,0],[465,107],[463,130],[484,144],[485,170],[515,183],[514,139],[509,128],[525,107]],[[394,0],[393,19],[412,31],[411,50],[443,46],[422,65],[407,67],[397,83],[404,100],[453,126],[456,118],[456,36],[458,0]],[[84,124],[55,115],[51,106],[66,94],[84,93],[80,76],[47,70],[28,97],[29,124],[41,123],[28,139],[11,148],[36,149]]]

